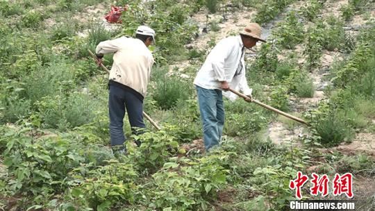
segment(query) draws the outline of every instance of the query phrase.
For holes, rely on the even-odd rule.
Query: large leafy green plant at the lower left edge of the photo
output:
[[[63,182],[72,168],[83,162],[77,144],[61,137],[37,139],[38,121],[26,122],[26,127],[9,130],[1,139],[8,140],[4,164],[12,177],[8,178],[15,194],[49,197],[67,187]],[[28,135],[29,133],[29,135]],[[39,199],[41,200],[41,199]]]

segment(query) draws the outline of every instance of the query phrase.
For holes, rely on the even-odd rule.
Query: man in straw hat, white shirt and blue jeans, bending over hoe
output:
[[[262,28],[251,23],[238,36],[220,40],[208,54],[206,61],[194,80],[197,88],[199,110],[203,122],[203,140],[206,151],[219,145],[224,128],[224,103],[222,90],[231,87],[240,90],[251,99],[252,90],[245,76],[244,51],[256,45]],[[229,99],[235,99],[231,93],[225,93]]]

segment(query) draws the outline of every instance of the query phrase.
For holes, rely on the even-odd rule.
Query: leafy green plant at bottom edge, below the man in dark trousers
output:
[[[70,194],[80,209],[109,210],[120,201],[133,203],[139,197],[137,196],[139,187],[135,184],[138,174],[133,169],[133,165],[120,163],[117,160],[107,162],[107,165],[88,171],[87,174],[76,174],[76,181],[81,184],[72,188]]]

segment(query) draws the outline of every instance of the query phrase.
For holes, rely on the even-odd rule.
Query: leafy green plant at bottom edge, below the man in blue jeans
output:
[[[209,155],[207,158],[166,162],[161,171],[153,174],[154,192],[151,208],[164,210],[208,209],[206,199],[213,199],[217,190],[226,184],[226,174],[220,161],[227,155]],[[178,170],[178,171],[177,171]]]

